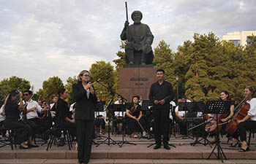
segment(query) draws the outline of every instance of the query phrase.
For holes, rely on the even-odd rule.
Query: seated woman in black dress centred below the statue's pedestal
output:
[[[127,106],[127,127],[129,128],[129,131],[134,132],[134,138],[138,138],[138,132],[142,132],[141,126],[144,126],[144,122],[141,119],[142,117],[142,111],[141,106],[138,104],[139,96],[135,95],[132,97],[132,105]],[[139,125],[140,123],[140,125]],[[144,127],[143,127],[144,128]],[[144,128],[145,129],[145,128]],[[146,137],[146,132],[143,131],[142,133],[143,138]]]

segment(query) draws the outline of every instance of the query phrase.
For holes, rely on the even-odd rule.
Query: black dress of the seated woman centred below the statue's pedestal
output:
[[[133,105],[128,105],[127,109],[129,109],[129,112],[131,112]],[[138,104],[136,111],[134,113],[132,113],[132,116],[135,116],[136,118],[138,118],[140,116],[140,111],[141,111],[141,106]],[[131,113],[130,113],[131,114]],[[128,135],[132,134],[134,131],[135,132],[142,132],[143,130],[140,128],[140,125],[144,128],[145,127],[145,121],[142,119],[142,117],[140,117],[140,125],[138,123],[137,120],[130,118],[127,116],[127,119],[125,120],[126,125],[127,125],[127,130],[126,133]]]

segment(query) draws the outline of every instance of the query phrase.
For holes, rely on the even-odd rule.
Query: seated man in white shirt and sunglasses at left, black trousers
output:
[[[27,124],[33,128],[33,133],[42,133],[44,131],[43,128],[46,128],[44,122],[39,118],[38,113],[46,112],[48,107],[45,106],[43,109],[41,106],[37,104],[37,101],[31,99],[32,92],[30,90],[25,90],[23,92],[23,98],[25,102],[28,104],[26,106],[26,119]]]

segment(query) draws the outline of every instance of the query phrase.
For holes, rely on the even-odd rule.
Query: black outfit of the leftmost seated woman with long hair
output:
[[[28,141],[29,136],[32,136],[33,130],[30,125],[18,121],[20,117],[18,104],[8,100],[5,106],[5,114],[6,120],[4,122],[4,127],[15,131],[15,142],[21,144],[24,141]]]

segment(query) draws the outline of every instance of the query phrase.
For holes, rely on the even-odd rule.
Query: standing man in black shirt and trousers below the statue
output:
[[[165,149],[170,149],[169,141],[169,114],[170,101],[173,100],[173,87],[170,82],[166,82],[165,71],[157,70],[157,82],[151,85],[149,100],[153,102],[153,117],[154,117],[154,136],[156,146],[154,149],[161,147],[161,134],[164,136],[163,144]]]

